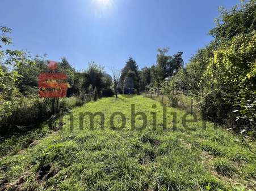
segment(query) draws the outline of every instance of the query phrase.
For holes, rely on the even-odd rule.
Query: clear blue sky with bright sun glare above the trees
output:
[[[183,51],[184,63],[212,40],[218,7],[239,0],[1,0],[0,25],[14,46],[48,59],[68,58],[77,69],[94,60],[109,72],[128,57],[139,67],[156,63],[159,47]]]

